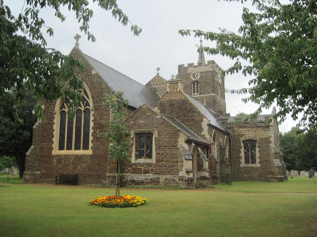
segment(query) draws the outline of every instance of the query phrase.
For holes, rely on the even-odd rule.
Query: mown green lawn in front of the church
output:
[[[114,190],[1,184],[0,236],[317,237],[315,177],[121,193],[145,197],[149,203],[124,209],[92,207],[89,201]]]

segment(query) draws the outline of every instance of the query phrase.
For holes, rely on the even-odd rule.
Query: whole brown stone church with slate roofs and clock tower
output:
[[[272,114],[243,122],[226,111],[225,79],[213,61],[199,53],[197,65],[178,65],[175,78],[157,75],[146,85],[83,53],[70,52],[86,69],[83,100],[75,118],[63,98],[44,102],[44,119],[33,128],[24,183],[51,183],[55,176],[78,174],[78,184],[114,185],[116,162],[108,141],[98,136],[109,124],[105,93],[122,90],[129,100],[126,126],[132,132],[129,157],[121,165],[121,184],[218,184],[232,180],[283,181],[286,167]]]

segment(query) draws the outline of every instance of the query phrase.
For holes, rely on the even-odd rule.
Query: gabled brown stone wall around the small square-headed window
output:
[[[192,177],[181,177],[184,168],[184,156],[179,142],[185,144],[181,132],[167,120],[159,116],[147,105],[139,108],[126,121],[132,132],[133,147],[129,157],[131,163],[121,166],[122,184],[168,184],[184,187],[193,186]],[[136,135],[152,133],[154,136],[152,159],[135,157]]]

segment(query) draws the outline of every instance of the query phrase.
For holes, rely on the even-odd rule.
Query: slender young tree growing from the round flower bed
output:
[[[130,162],[128,158],[132,145],[131,132],[127,131],[125,119],[128,114],[128,100],[124,98],[123,91],[106,94],[105,106],[110,109],[109,128],[105,133],[100,133],[109,141],[109,157],[117,161],[117,176],[115,181],[115,196],[120,197],[120,165],[122,162]]]

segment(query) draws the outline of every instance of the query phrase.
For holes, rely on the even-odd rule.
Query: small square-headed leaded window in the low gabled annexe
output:
[[[136,143],[137,143],[136,158],[152,159],[153,135],[152,134],[137,134]]]

